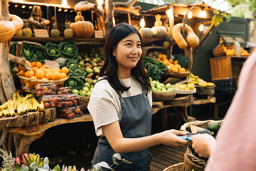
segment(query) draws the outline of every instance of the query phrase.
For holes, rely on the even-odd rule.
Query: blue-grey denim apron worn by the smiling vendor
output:
[[[142,94],[136,96],[123,98],[120,93],[118,94],[122,110],[122,117],[119,124],[123,137],[138,138],[151,135],[152,107],[147,99],[145,88],[142,86]],[[100,137],[94,154],[92,168],[93,165],[101,161],[104,161],[111,166],[113,164],[112,155],[114,153],[115,152],[106,137]],[[116,171],[150,170],[152,155],[148,151],[148,148],[138,152],[121,153],[120,155],[121,158],[132,163],[127,164],[118,161],[120,163],[119,165],[114,164],[111,166]]]

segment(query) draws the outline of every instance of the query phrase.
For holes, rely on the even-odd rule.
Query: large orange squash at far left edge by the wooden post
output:
[[[23,28],[23,20],[17,15],[10,14],[10,21],[0,20],[0,42],[6,42],[20,29]]]

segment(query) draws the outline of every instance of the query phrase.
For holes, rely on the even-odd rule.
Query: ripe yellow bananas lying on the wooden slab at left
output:
[[[41,101],[39,103],[33,94],[27,94],[25,97],[20,96],[17,92],[13,94],[13,98],[0,105],[0,117],[5,115],[15,116],[17,114],[22,115],[24,113],[32,111],[44,111],[45,104]]]

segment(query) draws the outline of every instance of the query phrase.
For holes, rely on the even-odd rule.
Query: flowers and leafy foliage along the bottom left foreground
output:
[[[0,171],[79,171],[76,169],[76,166],[65,166],[62,165],[60,168],[59,165],[56,165],[53,169],[49,166],[48,157],[40,158],[38,154],[23,154],[19,155],[19,157],[13,158],[12,154],[8,154],[8,152],[4,151],[0,148],[0,157],[2,157],[3,164],[0,167]],[[102,167],[106,169],[110,169],[114,171],[112,166],[114,164],[119,165],[118,160],[124,163],[131,164],[130,161],[121,158],[119,153],[115,153],[112,156],[113,164],[109,166],[108,163],[102,161],[93,166],[92,169],[88,169],[87,171],[99,171],[103,170]],[[86,171],[84,168],[81,168],[80,171]]]

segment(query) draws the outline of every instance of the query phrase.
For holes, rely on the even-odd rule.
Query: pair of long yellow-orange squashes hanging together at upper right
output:
[[[179,23],[176,24],[173,28],[172,35],[177,43],[177,45],[180,47],[180,49],[185,49],[187,46],[190,48],[196,48],[199,45],[199,37],[194,33],[193,29],[189,27],[188,25],[185,25],[185,35],[186,40],[181,34],[183,24]]]

